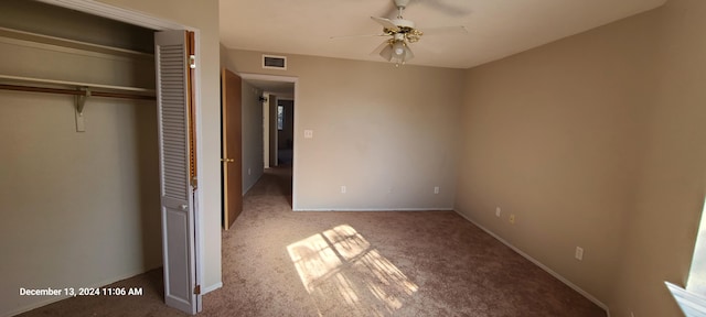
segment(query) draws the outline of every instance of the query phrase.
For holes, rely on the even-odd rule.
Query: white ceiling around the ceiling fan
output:
[[[469,68],[662,6],[666,0],[411,0],[417,29],[463,25],[466,35],[425,35],[414,65]],[[393,0],[221,0],[221,42],[229,48],[384,62],[386,37],[371,15],[394,18]]]

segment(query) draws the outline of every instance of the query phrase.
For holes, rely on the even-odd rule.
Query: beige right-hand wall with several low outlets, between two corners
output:
[[[457,210],[606,300],[642,145],[633,18],[468,72]],[[643,55],[644,56],[644,55]],[[495,217],[501,207],[502,217]],[[515,225],[509,222],[516,215]],[[577,245],[584,261],[574,259]]]

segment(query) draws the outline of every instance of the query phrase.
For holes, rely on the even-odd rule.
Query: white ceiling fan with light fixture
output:
[[[415,54],[409,47],[410,43],[416,43],[425,34],[466,34],[468,31],[462,25],[459,26],[441,26],[425,29],[425,31],[415,28],[415,22],[403,18],[405,8],[409,4],[410,0],[393,0],[397,8],[397,18],[386,19],[378,17],[371,17],[373,21],[383,25],[382,34],[372,35],[353,35],[353,36],[338,36],[332,39],[342,37],[360,37],[360,36],[389,36],[371,54],[378,54],[385,61],[395,63],[396,66],[405,64],[415,57]],[[418,0],[419,1],[419,0]]]

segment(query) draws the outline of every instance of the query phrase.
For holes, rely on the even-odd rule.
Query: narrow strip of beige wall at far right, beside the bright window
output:
[[[706,189],[706,2],[652,13],[657,42],[635,201],[627,215],[616,316],[681,316],[662,281],[684,285]],[[703,255],[703,254],[702,254]]]

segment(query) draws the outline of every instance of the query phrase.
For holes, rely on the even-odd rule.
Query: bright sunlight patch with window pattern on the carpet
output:
[[[419,288],[347,225],[291,243],[287,251],[320,313],[345,305],[360,315],[385,316]]]

